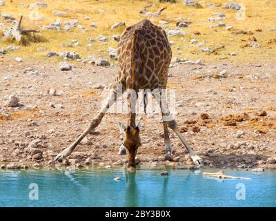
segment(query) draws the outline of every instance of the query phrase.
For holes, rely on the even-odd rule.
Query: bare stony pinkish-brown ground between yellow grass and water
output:
[[[97,114],[117,67],[58,61],[0,59],[0,165],[55,166],[57,153],[86,128]],[[168,88],[175,89],[181,133],[206,166],[276,168],[276,63],[172,64]],[[189,166],[193,162],[170,133],[173,162],[164,162],[163,125],[159,114],[141,115],[140,164]],[[64,166],[115,166],[121,135],[110,113],[77,146]]]

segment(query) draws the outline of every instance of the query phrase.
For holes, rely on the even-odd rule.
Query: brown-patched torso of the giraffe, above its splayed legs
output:
[[[148,19],[129,26],[117,48],[117,82],[125,88],[166,88],[172,57],[166,32]]]

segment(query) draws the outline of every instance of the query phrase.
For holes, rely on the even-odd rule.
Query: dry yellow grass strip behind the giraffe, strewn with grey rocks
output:
[[[42,30],[41,33],[48,42],[39,42],[37,44],[31,44],[16,53],[17,56],[21,57],[44,57],[48,51],[72,51],[79,52],[81,57],[87,57],[91,54],[101,54],[108,56],[107,48],[116,48],[117,42],[109,40],[107,44],[101,44],[100,41],[90,42],[88,37],[97,38],[99,35],[112,36],[121,35],[124,28],[118,28],[110,30],[112,24],[119,21],[125,21],[126,25],[132,25],[137,21],[140,21],[145,16],[139,15],[139,10],[148,6],[150,3],[153,5],[148,10],[155,12],[159,8],[166,6],[167,9],[162,12],[160,17],[152,18],[154,23],[158,24],[159,20],[169,21],[169,29],[175,28],[176,19],[178,17],[189,17],[190,24],[188,28],[183,28],[187,32],[184,35],[185,41],[182,41],[180,37],[170,37],[170,41],[175,41],[175,45],[172,46],[173,56],[188,59],[199,59],[202,58],[204,61],[214,61],[221,59],[228,59],[230,61],[269,61],[275,57],[275,44],[268,44],[270,39],[273,39],[273,32],[269,32],[268,29],[275,26],[275,1],[258,1],[258,0],[239,0],[238,2],[246,6],[246,19],[244,21],[238,21],[235,18],[235,10],[225,10],[221,8],[210,9],[206,6],[206,1],[199,1],[203,8],[192,8],[183,5],[183,1],[178,0],[177,3],[159,3],[157,0],[152,1],[81,1],[81,0],[60,0],[53,1],[49,0],[48,8],[39,9],[39,14],[45,17],[43,21],[32,21],[28,19],[28,15],[31,10],[28,9],[28,4],[36,2],[37,0],[14,0],[7,2],[6,6],[2,7],[1,10],[11,13],[17,19],[20,15],[24,16],[23,26],[28,28],[41,28],[41,26],[48,25],[55,22],[57,19],[61,21],[68,21],[70,19],[79,19],[79,24],[83,25],[88,29],[88,32],[83,32],[75,28],[70,31],[53,31],[53,30]],[[19,6],[21,3],[21,6]],[[213,3],[215,6],[221,6],[224,3],[228,3],[228,0],[210,0],[208,3]],[[261,6],[260,6],[261,5]],[[73,10],[72,10],[73,9]],[[52,10],[64,10],[68,12],[68,17],[55,17],[52,15]],[[214,17],[215,12],[226,13],[226,19],[222,22],[226,25],[233,25],[235,30],[250,30],[253,32],[253,36],[257,39],[257,43],[261,45],[260,48],[241,48],[240,46],[247,43],[248,38],[252,37],[249,35],[234,35],[231,31],[225,28],[210,28],[212,23],[208,22],[208,18]],[[85,20],[84,17],[89,17],[89,20]],[[90,28],[92,21],[97,22],[97,28]],[[219,21],[213,23],[217,24]],[[262,29],[262,31],[256,31]],[[193,32],[198,31],[201,35],[194,35]],[[1,33],[0,33],[1,34]],[[61,47],[61,44],[68,44],[73,39],[79,41],[80,46],[74,48]],[[197,39],[199,42],[206,41],[208,48],[216,48],[219,44],[224,44],[225,48],[219,50],[217,53],[208,54],[204,52],[198,52],[197,45],[190,45],[190,39]],[[245,40],[246,42],[244,42]],[[88,44],[92,44],[88,47]],[[0,42],[0,48],[5,48],[7,43]],[[46,48],[44,51],[37,51],[38,47]],[[179,55],[177,47],[182,51]],[[237,56],[229,56],[230,52],[236,52]],[[262,56],[260,56],[262,55]]]

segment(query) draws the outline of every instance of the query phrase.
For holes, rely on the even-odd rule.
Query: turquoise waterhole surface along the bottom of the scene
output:
[[[276,206],[275,172],[224,170],[253,180],[217,180],[202,171],[166,170],[166,177],[161,169],[0,171],[0,206]],[[30,200],[30,184],[37,184],[38,200]],[[245,200],[236,198],[241,185]]]

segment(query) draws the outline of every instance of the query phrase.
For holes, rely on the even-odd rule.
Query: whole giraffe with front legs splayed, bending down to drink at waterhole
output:
[[[152,96],[158,102],[161,108],[161,115],[164,126],[164,143],[165,143],[165,160],[172,160],[171,144],[168,128],[174,131],[182,144],[187,148],[190,158],[195,164],[202,164],[203,160],[197,155],[181,135],[177,128],[177,122],[173,119],[166,98],[161,91],[166,90],[168,80],[168,68],[172,58],[172,51],[166,32],[159,26],[155,26],[148,19],[143,19],[135,25],[128,26],[124,31],[117,47],[117,56],[119,71],[116,81],[112,84],[110,95],[106,99],[105,105],[95,118],[92,119],[83,133],[77,137],[68,148],[59,153],[55,160],[62,162],[76,148],[77,144],[96,128],[103,116],[107,113],[108,108],[119,98],[117,93],[119,86],[122,92],[128,93],[128,124],[124,126],[119,123],[119,129],[124,134],[122,145],[126,147],[128,153],[128,168],[135,169],[135,157],[141,140],[139,133],[141,131],[140,122],[136,125],[135,106],[137,91],[139,89],[155,90]]]

